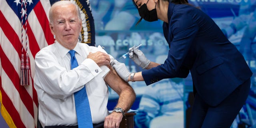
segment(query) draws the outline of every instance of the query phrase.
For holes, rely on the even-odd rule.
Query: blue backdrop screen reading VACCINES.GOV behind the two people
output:
[[[256,0],[189,0],[193,6],[199,7],[210,16],[226,34],[230,42],[235,44],[255,74],[256,57]],[[122,57],[132,46],[138,46],[152,62],[164,63],[168,54],[168,44],[164,38],[161,20],[146,22],[140,19],[137,8],[132,0],[90,0],[95,23],[96,46],[103,46],[119,62],[125,63],[130,72],[145,69],[137,66],[128,56]],[[188,21],[189,22],[189,21]],[[252,76],[250,98],[256,98],[255,75]],[[147,123],[135,121],[136,127],[154,127],[155,124],[186,126],[186,113],[190,107],[192,78],[173,78],[161,80],[150,86],[145,82],[129,82],[136,92],[136,101],[132,110],[147,114]],[[118,95],[109,89],[109,105],[112,109]],[[250,104],[251,115],[255,114],[254,104]],[[254,106],[254,108],[253,108]],[[249,116],[248,108],[243,107],[244,118],[256,124],[255,116]],[[135,118],[138,118],[135,116]],[[167,121],[166,121],[167,120]],[[176,123],[175,123],[176,122]],[[241,120],[235,120],[233,128],[238,127]],[[159,127],[159,126],[158,126]]]

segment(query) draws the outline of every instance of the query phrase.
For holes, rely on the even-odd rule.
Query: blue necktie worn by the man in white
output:
[[[76,51],[70,50],[68,52],[71,56],[71,69],[78,66],[75,53]],[[90,111],[90,105],[88,96],[86,94],[86,88],[82,88],[78,92],[74,93],[75,104],[76,104],[76,116],[78,122],[78,128],[93,128],[92,126],[92,116]]]

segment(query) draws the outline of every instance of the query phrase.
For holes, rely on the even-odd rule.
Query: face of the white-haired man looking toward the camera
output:
[[[73,49],[78,42],[82,28],[76,7],[72,4],[56,6],[53,10],[53,22],[50,24],[52,34],[62,46]]]

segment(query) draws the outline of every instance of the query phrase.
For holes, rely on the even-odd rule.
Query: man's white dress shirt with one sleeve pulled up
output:
[[[86,86],[92,122],[108,116],[108,86],[104,77],[110,71],[88,59],[89,52],[105,52],[101,47],[77,43],[74,48],[78,67],[70,70],[69,49],[58,42],[42,48],[35,57],[34,87],[38,94],[39,120],[42,126],[77,125],[74,92]],[[114,59],[110,56],[111,61]]]

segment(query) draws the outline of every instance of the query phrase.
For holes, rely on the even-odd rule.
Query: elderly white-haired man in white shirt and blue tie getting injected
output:
[[[109,66],[112,56],[78,42],[82,22],[76,4],[54,3],[49,18],[56,42],[35,57],[34,85],[42,127],[118,128],[136,98],[134,90]],[[111,114],[108,86],[119,95]]]

